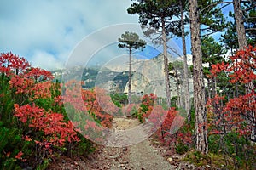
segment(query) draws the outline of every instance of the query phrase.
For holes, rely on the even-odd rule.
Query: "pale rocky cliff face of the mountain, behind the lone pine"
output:
[[[181,58],[172,58],[168,56],[169,62],[182,61]],[[135,59],[131,60],[131,93],[132,94],[150,94],[154,93],[159,97],[166,97],[164,56],[159,54],[153,59]],[[118,59],[113,63],[105,65],[111,71],[128,71],[128,58]],[[177,95],[177,87],[174,79],[170,79],[172,96]],[[124,93],[128,93],[128,84],[125,85]]]

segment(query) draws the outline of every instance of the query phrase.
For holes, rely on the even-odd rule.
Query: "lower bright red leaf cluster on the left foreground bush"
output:
[[[50,145],[62,146],[66,140],[79,141],[72,122],[65,122],[64,116],[60,113],[46,112],[34,104],[15,104],[15,116],[29,127],[44,132],[45,138],[48,139],[42,143],[45,148],[49,148]]]

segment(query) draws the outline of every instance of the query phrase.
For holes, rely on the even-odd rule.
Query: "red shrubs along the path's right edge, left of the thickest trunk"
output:
[[[143,122],[148,121],[153,124],[156,136],[166,144],[182,141],[185,144],[192,143],[190,132],[181,132],[185,118],[180,116],[175,107],[165,111],[162,106],[156,105],[157,97],[154,94],[144,95],[142,105],[138,112],[143,114]]]

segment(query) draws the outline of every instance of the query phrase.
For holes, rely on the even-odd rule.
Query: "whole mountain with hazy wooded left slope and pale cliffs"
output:
[[[190,64],[191,57],[188,59]],[[172,58],[168,56],[169,62],[180,61],[182,58]],[[132,58],[131,91],[132,94],[143,95],[154,93],[159,97],[166,97],[164,57],[159,54],[153,59]],[[74,67],[68,71],[53,71],[56,79],[61,79],[62,75],[84,81],[83,88],[104,88],[108,92],[128,93],[128,57],[120,57],[111,60],[101,67]],[[82,75],[81,75],[82,72]],[[68,79],[68,78],[67,78]],[[189,81],[191,82],[191,81]],[[171,96],[177,95],[177,83],[174,78],[170,78]]]

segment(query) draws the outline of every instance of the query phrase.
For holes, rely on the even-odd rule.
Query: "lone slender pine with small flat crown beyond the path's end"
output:
[[[131,54],[133,49],[140,48],[143,50],[146,42],[139,38],[137,33],[125,31],[119,38],[119,48],[127,48],[129,50],[129,82],[128,82],[128,103],[131,104]]]

